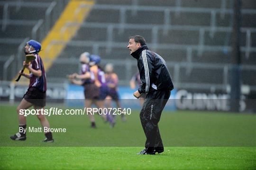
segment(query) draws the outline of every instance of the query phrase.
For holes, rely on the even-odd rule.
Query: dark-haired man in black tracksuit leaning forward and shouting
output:
[[[158,129],[161,113],[174,89],[171,75],[165,60],[158,54],[149,51],[142,36],[129,37],[127,48],[137,59],[141,85],[134,96],[139,98],[147,93],[140,111],[140,121],[146,134],[145,149],[138,154],[155,154],[164,152],[164,146]]]

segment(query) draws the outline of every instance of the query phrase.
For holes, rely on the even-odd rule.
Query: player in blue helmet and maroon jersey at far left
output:
[[[10,136],[12,140],[26,140],[26,128],[27,121],[26,117],[21,114],[21,110],[28,109],[33,106],[39,113],[37,118],[39,119],[41,125],[50,128],[49,122],[46,119],[45,115],[42,114],[44,107],[46,106],[46,73],[44,69],[44,64],[39,56],[41,50],[41,44],[35,40],[29,40],[25,46],[25,54],[33,54],[36,58],[27,64],[23,62],[23,66],[29,70],[30,74],[19,72],[20,75],[29,79],[29,87],[26,94],[21,100],[20,104],[17,107],[18,113],[18,123],[19,123],[19,132]],[[45,140],[43,142],[54,142],[52,133],[46,130]]]

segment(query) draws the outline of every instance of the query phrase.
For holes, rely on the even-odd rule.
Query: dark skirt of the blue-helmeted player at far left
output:
[[[29,87],[23,98],[35,106],[46,106],[46,91],[43,92],[35,87]]]

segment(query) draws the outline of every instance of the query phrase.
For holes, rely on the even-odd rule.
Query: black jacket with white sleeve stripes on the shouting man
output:
[[[158,54],[149,51],[146,45],[141,46],[131,54],[137,59],[141,85],[138,92],[148,93],[150,89],[174,89],[171,75],[165,60]]]

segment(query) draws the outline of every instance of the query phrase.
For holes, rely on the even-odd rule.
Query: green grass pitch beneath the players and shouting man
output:
[[[110,129],[101,117],[91,129],[86,116],[49,116],[55,143],[42,143],[43,133],[27,133],[26,141],[11,141],[18,130],[15,106],[0,107],[0,169],[256,169],[256,115],[202,111],[163,112],[159,129],[165,152],[136,155],[145,136],[138,110]],[[27,126],[40,126],[36,116]]]

